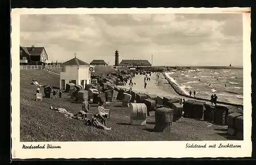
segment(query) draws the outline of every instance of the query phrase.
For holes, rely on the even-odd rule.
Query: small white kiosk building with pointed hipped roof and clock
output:
[[[77,59],[76,57],[61,64],[60,71],[60,89],[66,88],[67,83],[81,85],[84,89],[86,84],[91,84],[91,72],[94,72],[94,66]]]

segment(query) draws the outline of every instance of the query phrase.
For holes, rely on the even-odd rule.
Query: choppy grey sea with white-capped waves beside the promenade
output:
[[[243,69],[172,70],[165,75],[186,94],[196,91],[207,99],[216,94],[218,101],[243,104]]]

